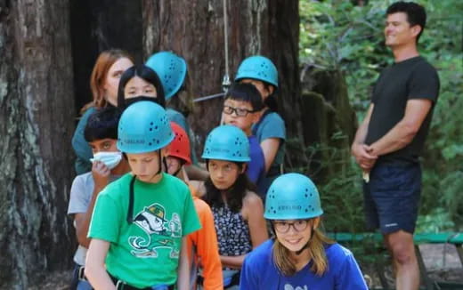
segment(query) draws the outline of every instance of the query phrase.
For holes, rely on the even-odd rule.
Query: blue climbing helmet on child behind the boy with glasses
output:
[[[254,55],[243,60],[238,68],[235,82],[243,78],[254,78],[278,88],[278,71],[272,60],[261,55]]]

